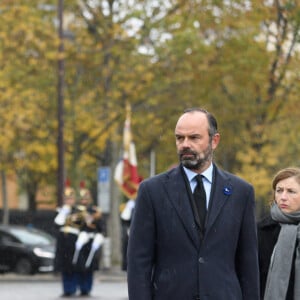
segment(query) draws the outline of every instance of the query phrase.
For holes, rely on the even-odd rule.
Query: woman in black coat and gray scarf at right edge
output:
[[[300,299],[300,168],[272,181],[270,216],[258,223],[261,299]]]

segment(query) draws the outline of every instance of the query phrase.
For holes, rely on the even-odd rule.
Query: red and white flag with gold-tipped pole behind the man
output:
[[[132,140],[130,121],[130,108],[128,106],[123,131],[123,158],[116,166],[114,179],[126,197],[135,199],[142,178],[137,170],[137,158],[135,144]]]

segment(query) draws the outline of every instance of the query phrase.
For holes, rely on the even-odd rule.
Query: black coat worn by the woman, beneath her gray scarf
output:
[[[278,239],[280,228],[281,228],[280,224],[272,220],[270,215],[264,217],[257,224],[261,299],[263,299],[264,296],[270,260],[273,253],[274,246]],[[293,278],[293,274],[294,274],[294,268],[292,268],[291,278]],[[285,300],[293,300],[292,291],[293,291],[293,280],[290,280],[290,285]]]

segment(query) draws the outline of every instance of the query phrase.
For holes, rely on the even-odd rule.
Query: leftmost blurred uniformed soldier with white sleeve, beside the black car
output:
[[[54,270],[61,273],[62,297],[71,297],[76,293],[78,278],[72,258],[75,243],[84,222],[84,212],[76,206],[75,190],[66,187],[64,204],[58,209],[58,214],[54,219],[54,224],[58,229]]]

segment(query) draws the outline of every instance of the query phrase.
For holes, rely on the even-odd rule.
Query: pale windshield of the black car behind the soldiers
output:
[[[41,231],[27,230],[23,228],[12,228],[10,230],[24,244],[29,245],[51,245],[53,238]]]

